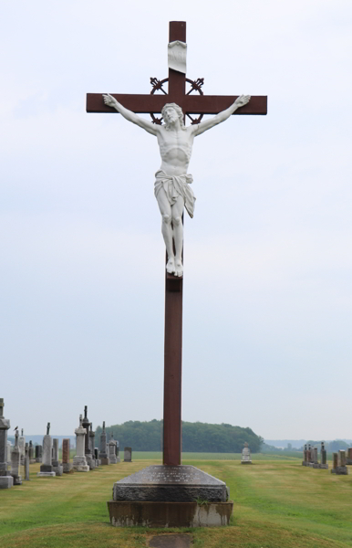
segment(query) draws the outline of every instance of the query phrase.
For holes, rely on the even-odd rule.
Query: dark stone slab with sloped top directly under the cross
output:
[[[220,479],[194,466],[154,465],[127,478],[113,487],[114,501],[174,501],[209,502],[227,500],[226,485]]]

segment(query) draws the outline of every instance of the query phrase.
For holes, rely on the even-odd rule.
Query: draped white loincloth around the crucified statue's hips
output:
[[[193,177],[190,174],[172,176],[167,175],[160,169],[155,174],[154,195],[155,197],[158,196],[162,186],[170,205],[176,204],[177,198],[182,196],[187,213],[192,218],[195,202],[195,195],[193,195],[192,188],[190,188],[192,181]]]

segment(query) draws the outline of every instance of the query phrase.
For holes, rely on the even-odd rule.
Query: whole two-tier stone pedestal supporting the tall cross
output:
[[[200,469],[157,465],[117,481],[108,507],[117,527],[207,527],[227,525],[233,502],[225,483]]]

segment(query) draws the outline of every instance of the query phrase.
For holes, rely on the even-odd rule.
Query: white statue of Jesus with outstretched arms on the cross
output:
[[[192,217],[195,196],[190,184],[192,175],[187,174],[192,155],[193,139],[197,135],[227,120],[234,111],[240,109],[251,99],[250,95],[241,95],[223,112],[211,119],[186,127],[183,123],[181,107],[175,103],[167,103],[161,114],[165,125],[154,125],[151,121],[140,118],[132,111],[125,109],[111,95],[103,95],[104,102],[116,109],[126,120],[132,121],[146,132],[158,138],[161,165],[155,174],[154,194],[158,201],[162,217],[161,232],[168,253],[166,269],[170,274],[182,276],[182,246],[183,246],[183,207]],[[172,240],[176,253],[173,252]]]

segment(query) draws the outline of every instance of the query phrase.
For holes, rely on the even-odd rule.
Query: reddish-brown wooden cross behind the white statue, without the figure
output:
[[[169,42],[186,42],[186,23],[171,21]],[[238,96],[186,94],[186,75],[169,68],[169,90],[163,95],[124,95],[111,93],[126,109],[136,113],[160,113],[165,103],[175,102],[184,115],[218,114]],[[101,93],[87,94],[87,112],[113,112]],[[252,96],[234,114],[266,114],[267,98]],[[166,274],[164,345],[163,463],[181,464],[181,371],[182,371],[182,289],[183,279]]]

